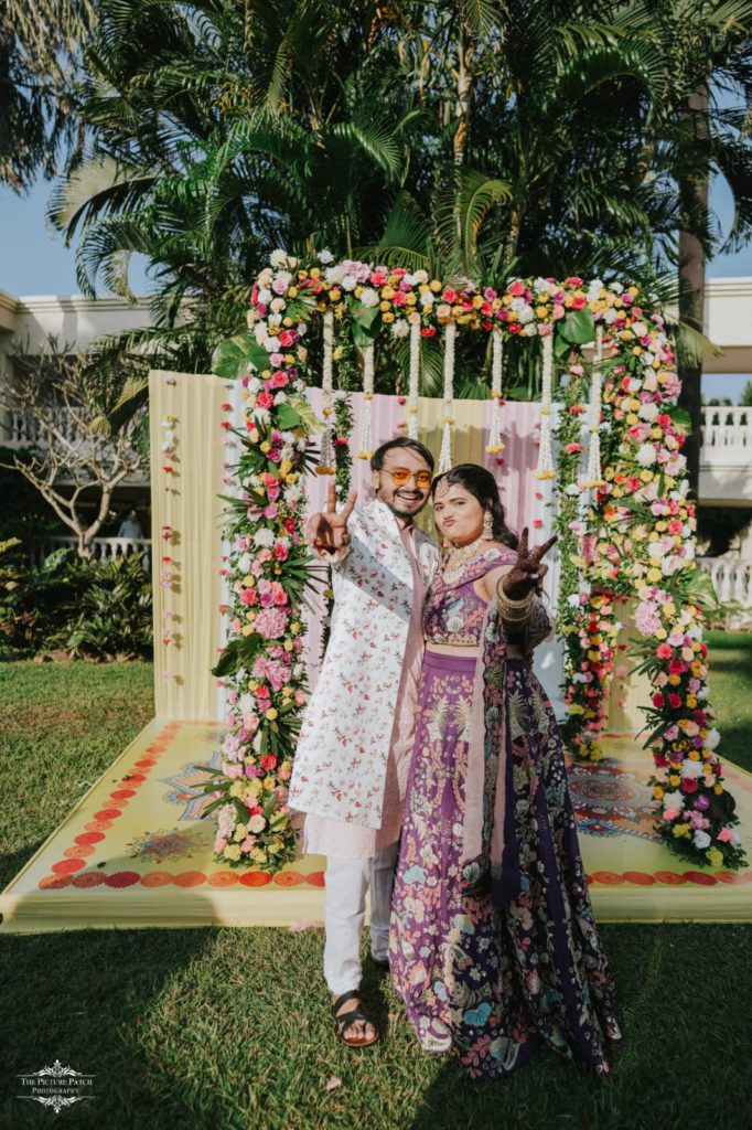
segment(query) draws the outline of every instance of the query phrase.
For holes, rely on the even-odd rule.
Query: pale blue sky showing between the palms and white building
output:
[[[75,247],[65,247],[62,236],[45,218],[52,184],[38,181],[27,197],[16,197],[0,185],[0,290],[12,295],[71,295],[76,281]],[[712,184],[710,203],[722,229],[728,232],[733,210],[731,193],[724,182]],[[572,270],[575,268],[572,267]],[[708,264],[709,278],[752,276],[752,244],[734,255],[717,255]],[[150,289],[146,259],[133,257],[131,288],[135,294]],[[102,290],[100,294],[106,294]],[[736,402],[749,377],[740,373],[707,374],[702,391],[708,397],[728,397]]]

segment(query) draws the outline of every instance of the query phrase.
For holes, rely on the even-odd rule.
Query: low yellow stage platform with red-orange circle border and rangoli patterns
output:
[[[0,932],[321,923],[325,860],[273,878],[213,862],[199,766],[219,764],[216,722],[155,720],[0,895]],[[569,788],[600,921],[752,920],[752,867],[692,870],[652,831],[650,759],[628,738],[572,763]],[[752,859],[752,774],[726,763]]]

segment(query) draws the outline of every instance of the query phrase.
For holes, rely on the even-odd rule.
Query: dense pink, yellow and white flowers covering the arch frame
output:
[[[373,357],[369,347],[384,333],[387,341],[408,337],[416,315],[422,337],[434,337],[441,325],[498,330],[502,338],[542,337],[550,389],[560,347],[569,351],[587,344],[596,324],[603,327],[603,423],[597,425],[604,441],[603,485],[587,515],[592,532],[583,531],[574,555],[582,573],[578,589],[566,593],[576,596],[569,640],[578,641],[580,655],[577,670],[572,644],[570,713],[577,714],[572,705],[586,703],[580,732],[600,731],[620,627],[614,597],[637,594],[644,668],[662,694],[647,709],[656,753],[653,783],[663,803],[661,833],[698,862],[740,864],[733,801],[723,785],[707,704],[701,612],[693,596],[700,588],[694,514],[687,502],[684,435],[674,407],[679,379],[663,322],[644,314],[638,296],[637,287],[604,286],[597,279],[585,285],[575,276],[563,282],[515,279],[497,290],[469,279],[443,282],[426,271],[334,263],[327,252],[315,264],[273,253],[253,287],[250,332],[220,347],[215,365],[219,375],[234,367],[247,393],[238,469],[244,495],[241,506],[233,504],[236,635],[216,669],[235,679],[233,724],[220,780],[213,783],[221,793],[216,798],[220,858],[276,869],[295,850],[285,782],[306,698],[296,658],[303,632],[298,610],[311,570],[300,544],[300,476],[306,432],[318,429],[304,400],[309,366],[301,338],[314,316],[331,310],[336,322],[347,319],[366,357]],[[453,334],[447,333],[449,349]],[[540,470],[551,473],[544,446],[542,460]],[[569,486],[579,492],[584,484]],[[589,664],[585,670],[583,661]],[[592,679],[575,680],[588,671]]]

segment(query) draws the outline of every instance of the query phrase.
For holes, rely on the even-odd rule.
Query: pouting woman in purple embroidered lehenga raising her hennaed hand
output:
[[[546,570],[517,553],[492,476],[434,484],[451,544],[426,603],[426,652],[390,962],[427,1052],[501,1078],[541,1043],[607,1072],[619,1038],[551,704],[530,653],[551,624]]]

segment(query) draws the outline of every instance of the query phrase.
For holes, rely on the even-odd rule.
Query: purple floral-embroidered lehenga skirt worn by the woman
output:
[[[426,1052],[454,1051],[472,1079],[502,1078],[546,1043],[607,1071],[620,1038],[613,985],[587,892],[563,749],[543,688],[506,662],[501,883],[462,864],[475,659],[426,652],[390,963]],[[488,709],[488,698],[487,698]]]

